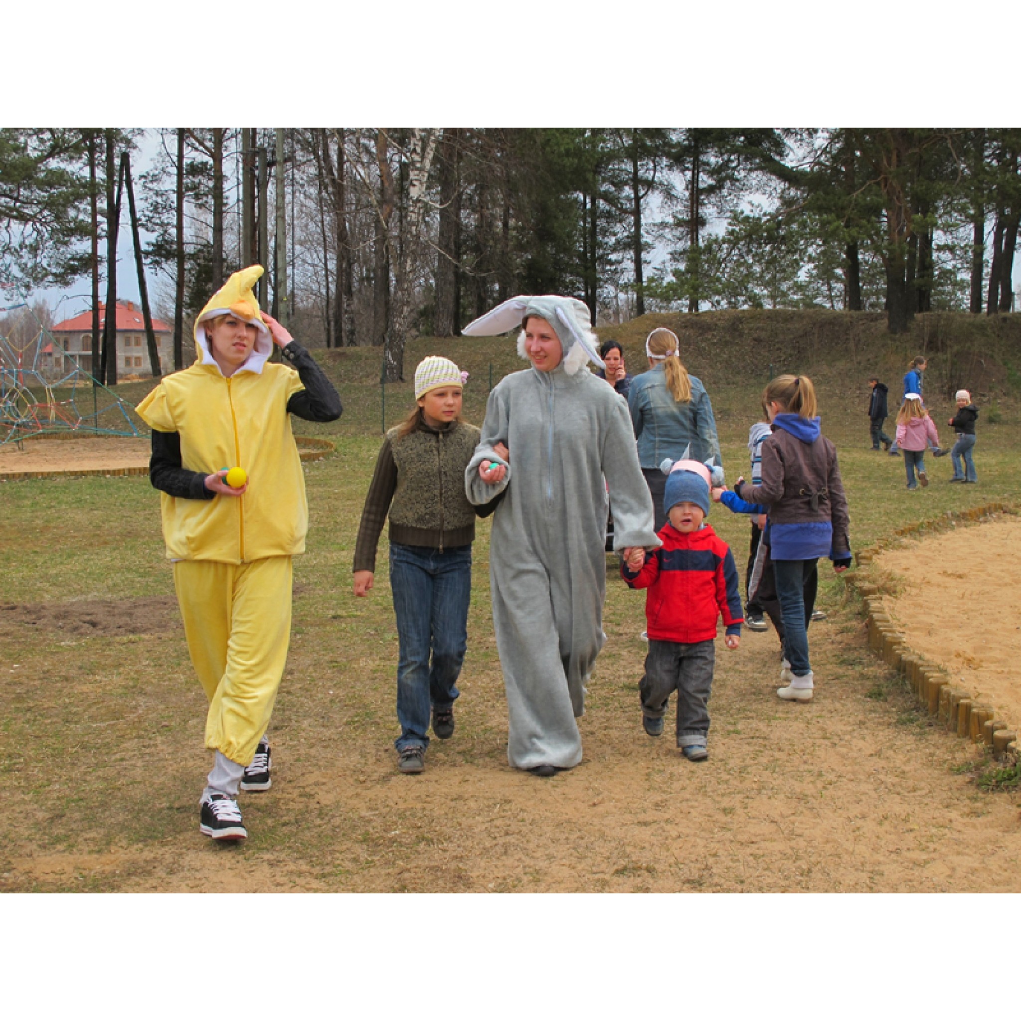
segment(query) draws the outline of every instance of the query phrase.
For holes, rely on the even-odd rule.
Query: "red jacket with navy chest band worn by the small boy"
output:
[[[727,543],[710,525],[683,533],[668,522],[659,535],[663,545],[645,553],[641,570],[621,565],[629,588],[648,589],[649,638],[685,644],[712,641],[721,614],[727,634],[739,635],[744,617],[737,567]]]

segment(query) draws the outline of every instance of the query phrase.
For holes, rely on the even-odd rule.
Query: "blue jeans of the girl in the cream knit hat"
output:
[[[397,617],[397,750],[429,746],[430,711],[449,710],[468,647],[472,547],[433,549],[390,543]],[[430,653],[432,663],[430,664]]]

